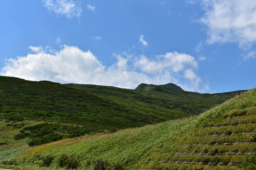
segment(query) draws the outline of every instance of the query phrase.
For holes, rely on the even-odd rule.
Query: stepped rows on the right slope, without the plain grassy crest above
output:
[[[230,118],[229,115],[236,116]],[[228,118],[228,119],[227,119]],[[169,169],[236,169],[255,163],[255,108],[235,110],[180,140],[161,160]],[[217,169],[217,168],[216,168]]]

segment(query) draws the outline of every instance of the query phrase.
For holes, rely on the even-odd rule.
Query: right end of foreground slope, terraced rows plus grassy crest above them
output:
[[[198,118],[183,131],[158,169],[256,169],[256,89]]]

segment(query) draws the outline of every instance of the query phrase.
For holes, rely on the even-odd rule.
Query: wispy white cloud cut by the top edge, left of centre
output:
[[[65,15],[68,18],[80,16],[82,8],[78,0],[42,0],[48,11]]]

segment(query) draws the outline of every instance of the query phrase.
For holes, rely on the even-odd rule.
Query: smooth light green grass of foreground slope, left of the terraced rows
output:
[[[191,122],[193,118],[121,130],[111,135],[102,134],[83,140],[78,137],[72,142],[60,140],[53,144],[31,147],[17,157],[15,162],[39,166],[38,161],[41,157],[53,155],[55,160],[58,160],[61,155],[67,154],[68,157],[78,159],[81,166],[87,166],[85,169],[92,169],[93,162],[98,159],[107,160],[110,164],[133,166],[139,159],[144,159],[144,154],[154,145],[163,141],[169,141],[171,145],[177,133]],[[54,163],[51,167],[57,169],[58,164]]]

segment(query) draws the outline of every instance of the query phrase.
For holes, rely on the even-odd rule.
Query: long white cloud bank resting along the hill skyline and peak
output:
[[[142,55],[127,57],[115,54],[117,62],[105,67],[92,52],[63,45],[61,50],[49,47],[29,47],[24,57],[9,59],[1,75],[28,80],[50,80],[60,83],[101,84],[134,88],[138,84],[173,82],[186,90],[198,90],[201,79],[193,69],[198,63],[191,55],[168,52],[149,59]]]

